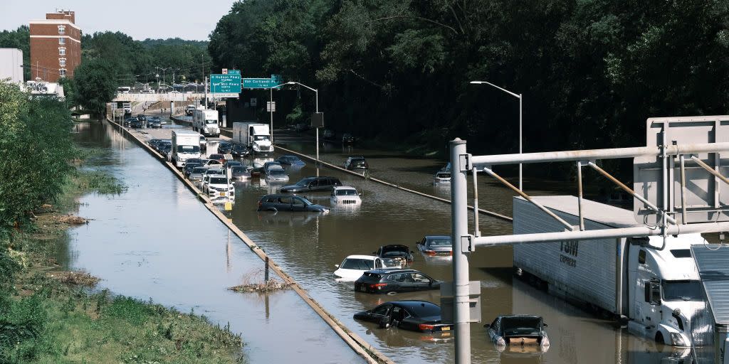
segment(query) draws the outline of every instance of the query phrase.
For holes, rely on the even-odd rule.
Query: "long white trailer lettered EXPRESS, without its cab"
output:
[[[534,197],[573,226],[579,225],[577,197]],[[585,229],[636,226],[631,211],[583,200]],[[515,197],[514,234],[563,232],[564,226],[531,202]],[[625,240],[545,242],[514,245],[514,266],[539,277],[561,293],[616,313],[615,261]]]

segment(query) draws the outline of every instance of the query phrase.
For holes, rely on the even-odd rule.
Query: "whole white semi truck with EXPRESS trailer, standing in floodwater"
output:
[[[577,197],[534,197],[573,226]],[[514,234],[563,232],[564,226],[521,197],[514,198]],[[583,200],[585,229],[639,226],[632,211]],[[628,320],[628,331],[675,347],[702,344],[693,323],[707,309],[692,247],[701,234],[609,238],[514,245],[518,274],[536,277],[550,293]]]

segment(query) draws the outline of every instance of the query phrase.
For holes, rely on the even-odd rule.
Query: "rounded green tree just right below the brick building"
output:
[[[99,120],[106,112],[106,103],[117,95],[117,73],[106,60],[84,60],[74,72],[76,102]]]

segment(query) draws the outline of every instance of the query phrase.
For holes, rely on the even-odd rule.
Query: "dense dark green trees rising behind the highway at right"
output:
[[[238,1],[208,49],[216,68],[318,87],[338,130],[514,152],[518,99],[468,84],[485,80],[523,94],[525,151],[637,146],[650,116],[725,113],[728,4]]]

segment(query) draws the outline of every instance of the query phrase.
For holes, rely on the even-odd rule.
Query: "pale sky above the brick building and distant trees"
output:
[[[233,0],[0,0],[0,31],[45,19],[56,9],[76,12],[83,33],[120,31],[136,40],[182,38],[206,41]]]

